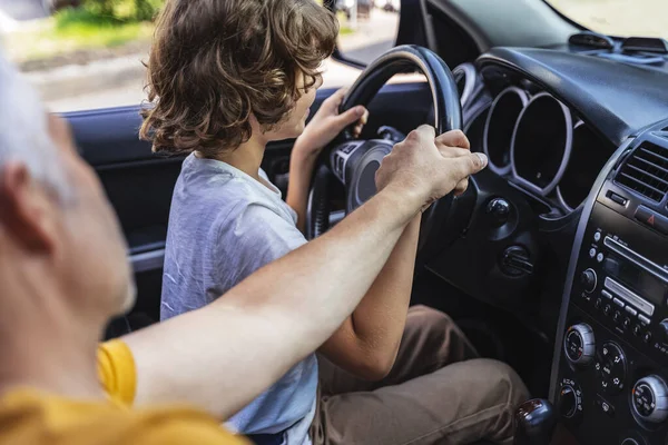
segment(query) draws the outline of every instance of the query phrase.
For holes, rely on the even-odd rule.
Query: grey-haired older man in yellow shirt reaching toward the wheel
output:
[[[1,57],[0,98],[0,444],[237,443],[217,419],[324,343],[406,224],[487,164],[421,127],[383,162],[381,191],[327,235],[215,305],[99,348],[134,301],[118,221],[67,125]]]

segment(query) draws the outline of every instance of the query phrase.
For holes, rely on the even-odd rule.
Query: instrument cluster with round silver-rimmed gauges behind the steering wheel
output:
[[[490,169],[562,214],[584,201],[615,151],[549,92],[521,86],[495,96],[482,141]]]

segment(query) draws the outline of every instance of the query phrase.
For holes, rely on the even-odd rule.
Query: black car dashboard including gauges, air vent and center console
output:
[[[432,271],[456,285],[475,268],[460,288],[546,327],[550,399],[579,443],[668,443],[668,68],[494,48],[453,75],[489,171],[448,255],[497,259]],[[500,199],[514,216],[495,218]],[[504,269],[509,249],[524,275]]]

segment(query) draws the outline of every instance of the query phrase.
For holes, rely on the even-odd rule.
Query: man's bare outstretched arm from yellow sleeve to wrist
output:
[[[234,414],[354,310],[418,207],[385,189],[224,298],[126,336],[137,403],[190,402],[219,419]]]

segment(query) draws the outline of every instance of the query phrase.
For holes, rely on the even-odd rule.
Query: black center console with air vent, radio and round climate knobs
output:
[[[586,204],[551,400],[581,444],[668,443],[668,134],[620,148]]]

